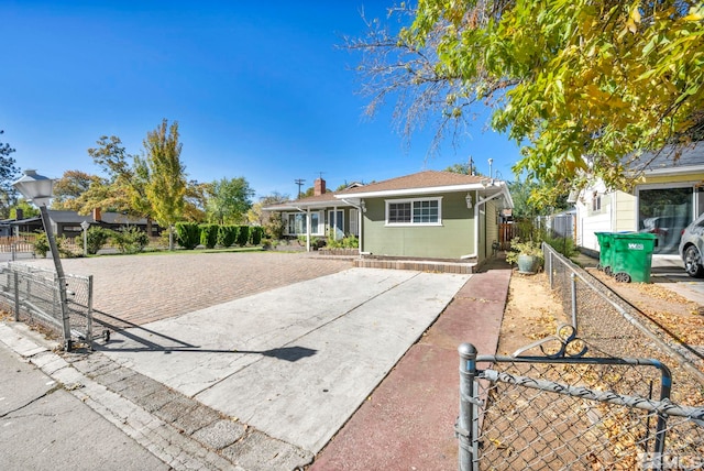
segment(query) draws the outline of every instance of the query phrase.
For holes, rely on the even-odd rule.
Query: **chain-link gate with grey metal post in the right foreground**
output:
[[[657,360],[459,350],[462,471],[704,469],[704,408],[669,401]]]

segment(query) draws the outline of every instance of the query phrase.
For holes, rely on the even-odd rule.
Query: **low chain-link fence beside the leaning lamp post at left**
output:
[[[37,322],[72,342],[90,346],[95,337],[92,275],[66,275],[65,283],[66,324],[56,272],[12,262],[0,265],[0,308],[13,313],[14,320]]]

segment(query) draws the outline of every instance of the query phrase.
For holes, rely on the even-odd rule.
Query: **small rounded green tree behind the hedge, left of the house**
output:
[[[245,220],[252,207],[254,191],[244,177],[222,178],[212,182],[207,189],[208,219],[219,224],[235,224]]]

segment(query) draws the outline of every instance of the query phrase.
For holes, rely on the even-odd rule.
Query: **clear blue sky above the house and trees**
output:
[[[2,1],[1,142],[18,166],[50,177],[99,174],[86,152],[101,135],[131,154],[166,118],[178,121],[189,179],[244,177],[256,196],[295,196],[318,176],[329,188],[444,169],[472,155],[512,180],[516,144],[476,121],[460,146],[430,156],[429,134],[405,145],[393,103],[363,116],[340,50],[362,36],[360,11],[383,18],[393,0]]]

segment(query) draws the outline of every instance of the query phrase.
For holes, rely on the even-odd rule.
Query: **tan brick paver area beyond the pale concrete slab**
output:
[[[53,267],[52,261],[32,263]],[[308,253],[189,252],[62,260],[64,271],[94,275],[96,320],[113,329],[178,316],[352,267]]]

